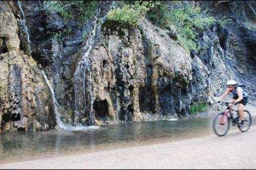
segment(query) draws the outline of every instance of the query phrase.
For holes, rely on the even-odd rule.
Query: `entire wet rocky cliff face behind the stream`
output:
[[[256,93],[256,34],[238,21],[202,32],[200,50],[189,54],[148,20],[139,28],[104,23],[110,6],[101,1],[83,28],[74,21],[74,34],[56,38],[64,21],[40,1],[0,2],[2,131],[55,128],[52,95],[65,125],[86,126],[187,116],[230,78]]]

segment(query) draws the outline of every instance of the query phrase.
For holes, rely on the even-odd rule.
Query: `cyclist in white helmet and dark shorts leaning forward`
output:
[[[235,80],[228,80],[227,81],[227,90],[222,94],[218,100],[220,102],[222,99],[224,99],[227,94],[232,93],[233,98],[231,99],[231,103],[233,105],[239,104],[238,105],[238,112],[239,116],[241,118],[240,127],[243,127],[244,123],[244,106],[248,102],[248,94],[246,91],[244,91],[243,88],[238,86],[238,83]],[[232,109],[232,104],[229,104],[229,107]]]

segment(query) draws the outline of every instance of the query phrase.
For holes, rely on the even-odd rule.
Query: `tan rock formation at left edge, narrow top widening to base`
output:
[[[20,51],[15,10],[14,2],[0,2],[0,129],[49,130],[52,99],[36,62]]]

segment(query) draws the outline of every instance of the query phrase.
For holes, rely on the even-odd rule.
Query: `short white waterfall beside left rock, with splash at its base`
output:
[[[64,129],[64,130],[70,130],[70,131],[95,130],[95,129],[99,128],[99,126],[84,127],[84,126],[65,125],[64,122],[61,121],[61,115],[58,112],[59,105],[58,105],[58,101],[55,97],[55,92],[54,92],[46,74],[44,73],[44,71],[41,70],[41,73],[44,76],[45,82],[47,83],[47,85],[51,91],[51,94],[52,94],[54,113],[55,113],[57,124],[58,124],[59,128]]]

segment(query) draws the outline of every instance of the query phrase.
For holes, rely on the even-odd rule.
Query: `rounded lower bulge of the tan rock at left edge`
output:
[[[44,109],[46,105],[52,108],[49,89],[40,71],[35,67],[35,61],[22,52],[12,51],[1,55],[4,56],[0,60],[2,68],[0,111],[3,116],[1,128],[32,130],[29,126],[35,120],[41,126],[47,124],[54,128],[53,111],[49,112]],[[37,117],[37,113],[40,115],[39,117]],[[9,124],[8,122],[12,123]],[[34,130],[45,129],[42,126],[42,128],[35,128]]]

